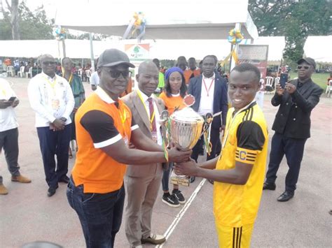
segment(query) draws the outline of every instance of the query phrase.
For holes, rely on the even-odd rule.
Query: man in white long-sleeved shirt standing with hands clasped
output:
[[[51,55],[41,56],[39,64],[42,72],[30,80],[28,95],[30,105],[36,112],[36,129],[49,187],[48,196],[53,196],[58,182],[69,182],[69,116],[74,108],[74,96],[69,82],[55,74],[56,64]]]

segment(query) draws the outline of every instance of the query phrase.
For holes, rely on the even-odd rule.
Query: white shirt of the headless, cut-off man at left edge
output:
[[[6,80],[0,78],[0,99],[8,100],[12,96],[16,97],[15,92]],[[0,108],[0,132],[16,129],[17,127],[18,121],[14,108],[12,106]]]

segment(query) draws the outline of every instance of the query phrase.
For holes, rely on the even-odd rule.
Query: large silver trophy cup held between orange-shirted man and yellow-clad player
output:
[[[192,149],[202,133],[204,119],[192,108],[175,111],[170,116],[170,136],[172,142],[182,150]],[[177,175],[172,171],[171,182],[189,186],[190,177]]]

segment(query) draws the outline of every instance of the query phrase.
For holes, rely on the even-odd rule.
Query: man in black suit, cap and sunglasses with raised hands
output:
[[[319,102],[323,89],[312,82],[316,63],[312,58],[298,61],[298,79],[286,83],[284,89],[276,87],[271,103],[280,105],[272,130],[270,163],[263,189],[275,190],[279,164],[286,155],[289,171],[286,175],[286,189],[278,201],[287,201],[294,196],[305,141],[310,138],[310,113]]]

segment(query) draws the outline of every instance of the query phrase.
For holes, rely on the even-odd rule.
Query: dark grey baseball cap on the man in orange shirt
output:
[[[102,66],[118,66],[119,64],[126,64],[131,68],[135,67],[130,63],[129,57],[125,52],[112,48],[104,50],[104,52],[100,54],[97,68]]]

